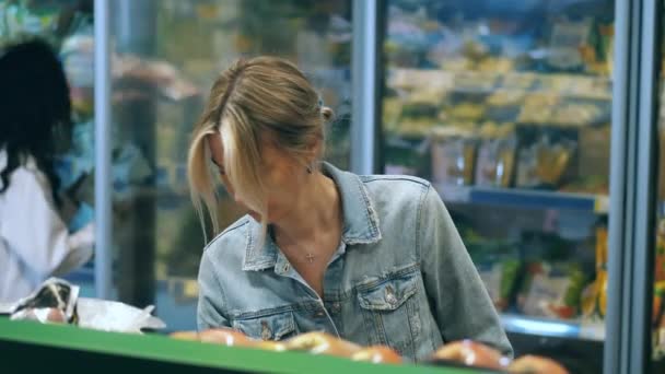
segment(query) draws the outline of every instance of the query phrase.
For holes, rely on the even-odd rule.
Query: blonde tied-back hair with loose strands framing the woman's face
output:
[[[214,234],[220,230],[218,196],[210,165],[209,136],[221,136],[224,172],[236,194],[267,218],[261,148],[266,141],[307,165],[314,145],[320,157],[325,124],[332,110],[293,63],[276,57],[240,59],[224,70],[195,125],[188,154],[188,178],[194,206],[206,224],[203,204]]]

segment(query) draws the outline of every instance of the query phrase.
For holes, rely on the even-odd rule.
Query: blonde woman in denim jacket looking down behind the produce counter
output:
[[[192,198],[217,232],[218,174],[248,214],[203,252],[199,329],[323,330],[412,360],[465,338],[512,354],[436,191],[322,162],[331,116],[279,58],[240,60],[214,82],[189,149]]]

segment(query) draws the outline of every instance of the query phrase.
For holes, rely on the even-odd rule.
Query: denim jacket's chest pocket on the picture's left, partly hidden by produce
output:
[[[261,340],[283,340],[298,334],[292,312],[240,318],[232,325],[248,337]]]

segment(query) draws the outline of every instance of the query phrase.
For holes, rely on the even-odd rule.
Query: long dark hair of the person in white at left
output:
[[[35,38],[0,49],[0,149],[7,152],[0,194],[32,155],[60,206],[55,157],[67,147],[71,127],[69,86],[50,45]]]

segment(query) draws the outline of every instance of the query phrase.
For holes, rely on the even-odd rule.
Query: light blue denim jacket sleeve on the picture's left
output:
[[[197,308],[197,325],[199,330],[215,327],[230,327],[229,319],[223,314],[224,292],[217,277],[217,267],[211,250],[203,250],[199,268],[199,302]]]

